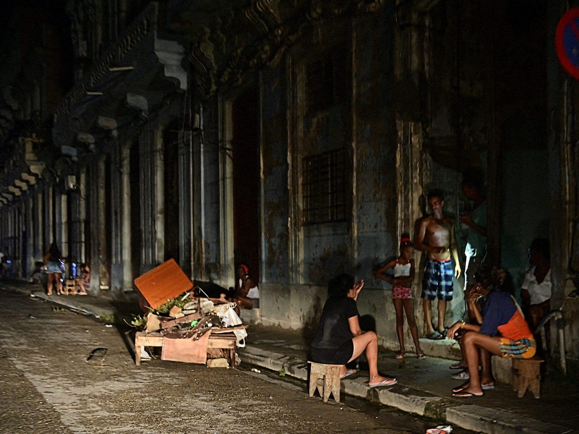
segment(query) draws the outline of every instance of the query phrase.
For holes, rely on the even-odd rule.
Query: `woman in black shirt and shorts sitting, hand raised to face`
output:
[[[362,333],[358,323],[356,300],[362,286],[364,281],[354,284],[354,277],[350,274],[340,274],[329,282],[329,298],[312,341],[310,356],[313,362],[342,365],[340,378],[344,378],[356,372],[348,370],[346,363],[365,350],[370,370],[369,386],[393,385],[395,378],[378,374],[378,336],[375,332]]]

